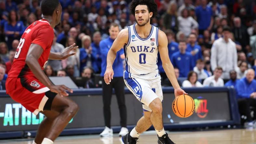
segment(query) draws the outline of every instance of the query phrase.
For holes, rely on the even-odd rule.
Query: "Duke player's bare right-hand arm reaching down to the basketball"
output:
[[[171,83],[173,85],[175,96],[187,94],[179,86],[179,83],[178,83],[177,78],[174,73],[173,64],[171,63],[169,54],[168,54],[168,47],[167,47],[168,40],[167,40],[165,33],[161,30],[159,30],[158,41],[159,41],[158,49],[159,49],[159,53],[160,53],[160,57],[161,57],[161,61],[162,61],[162,66],[163,66],[163,69],[164,69],[167,77],[169,78],[169,80],[171,81]]]

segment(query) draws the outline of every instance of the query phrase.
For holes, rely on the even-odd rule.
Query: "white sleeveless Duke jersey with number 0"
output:
[[[158,54],[158,28],[151,25],[146,39],[139,37],[135,24],[128,27],[129,39],[124,45],[125,70],[135,75],[144,75],[155,71]]]

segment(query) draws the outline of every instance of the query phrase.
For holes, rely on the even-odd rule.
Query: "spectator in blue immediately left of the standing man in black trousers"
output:
[[[99,47],[99,42],[101,41],[101,34],[99,31],[96,31],[93,34],[93,42],[91,44],[93,48],[93,52],[95,52],[94,55],[96,55],[96,64],[98,67],[98,71],[95,71],[95,73],[100,73],[101,72],[101,53],[100,53],[100,47]]]

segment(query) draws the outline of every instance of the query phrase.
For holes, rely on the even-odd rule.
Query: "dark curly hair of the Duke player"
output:
[[[133,0],[130,5],[130,11],[135,16],[135,7],[138,5],[146,5],[148,12],[152,12],[153,16],[157,15],[157,4],[155,0]]]

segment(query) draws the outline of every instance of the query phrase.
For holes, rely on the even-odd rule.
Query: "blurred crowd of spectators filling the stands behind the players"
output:
[[[49,60],[47,76],[86,79],[84,88],[99,87],[99,43],[109,37],[109,25],[120,30],[136,23],[131,0],[59,0],[61,23],[55,27],[51,52],[61,53],[74,42],[76,54]],[[169,57],[183,87],[234,86],[256,70],[256,2],[251,0],[156,0],[152,25],[168,38]],[[0,0],[0,80],[6,79],[19,39],[32,22],[42,18],[40,0]],[[160,56],[159,56],[160,58]],[[163,86],[171,86],[158,61]],[[255,74],[254,74],[255,75]],[[98,79],[98,78],[96,78]],[[2,86],[0,87],[2,88]]]

